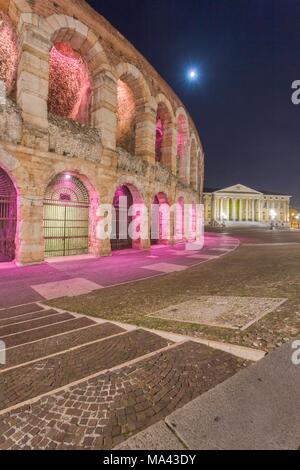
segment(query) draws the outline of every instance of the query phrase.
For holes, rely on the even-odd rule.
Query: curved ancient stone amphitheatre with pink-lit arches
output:
[[[99,205],[197,204],[203,178],[185,107],[101,15],[0,0],[0,261],[147,249],[100,239]]]

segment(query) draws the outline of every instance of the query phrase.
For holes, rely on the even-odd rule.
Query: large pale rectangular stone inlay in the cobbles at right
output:
[[[276,310],[286,299],[203,296],[150,316],[201,325],[245,330]]]

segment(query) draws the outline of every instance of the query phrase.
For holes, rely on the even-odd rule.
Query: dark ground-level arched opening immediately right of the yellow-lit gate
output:
[[[139,247],[142,230],[142,204],[139,191],[131,184],[119,186],[113,199],[111,248],[113,251]],[[137,236],[132,237],[133,233]]]

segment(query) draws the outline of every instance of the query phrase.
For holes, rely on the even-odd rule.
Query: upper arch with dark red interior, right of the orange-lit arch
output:
[[[162,93],[156,97],[156,103],[155,157],[157,162],[172,169],[174,159],[174,112],[171,103]]]

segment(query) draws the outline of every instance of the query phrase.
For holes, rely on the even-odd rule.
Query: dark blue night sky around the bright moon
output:
[[[300,208],[300,0],[89,1],[185,103],[209,187],[243,183]],[[186,80],[189,66],[201,71]]]

